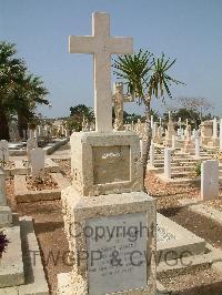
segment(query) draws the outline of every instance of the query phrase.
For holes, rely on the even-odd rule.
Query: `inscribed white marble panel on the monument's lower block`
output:
[[[87,225],[94,233],[97,228],[102,228],[102,232],[105,228],[101,238],[93,235],[87,238],[88,252],[93,255],[88,260],[90,295],[145,287],[147,218],[145,213],[133,213],[88,221]],[[110,237],[108,228],[109,232],[120,230],[114,231]],[[100,258],[92,263],[95,254]]]

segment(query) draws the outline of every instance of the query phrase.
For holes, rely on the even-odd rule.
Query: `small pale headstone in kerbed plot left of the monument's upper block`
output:
[[[32,177],[44,176],[44,150],[41,148],[30,151],[31,175]]]

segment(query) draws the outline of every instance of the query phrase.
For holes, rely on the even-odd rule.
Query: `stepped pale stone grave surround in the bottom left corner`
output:
[[[16,228],[17,236],[14,234],[12,235],[12,251],[6,269],[19,269],[20,273],[17,272],[13,276],[8,275],[6,277],[3,281],[4,285],[7,284],[11,286],[1,287],[0,294],[49,295],[49,287],[44,276],[44,269],[33,230],[32,218],[23,216],[19,220],[18,225],[7,230],[13,231],[13,228]],[[0,271],[2,272],[1,268],[2,267],[0,267]],[[23,276],[21,275],[21,272]],[[16,284],[13,284],[12,279]]]

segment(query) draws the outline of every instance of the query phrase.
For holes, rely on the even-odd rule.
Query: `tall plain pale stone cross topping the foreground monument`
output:
[[[111,54],[133,53],[133,39],[110,35],[110,16],[92,14],[92,35],[70,35],[70,53],[91,53],[94,60],[95,130],[112,130]]]

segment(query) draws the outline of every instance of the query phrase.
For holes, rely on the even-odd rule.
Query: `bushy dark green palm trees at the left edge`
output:
[[[49,104],[47,94],[41,79],[29,73],[24,61],[17,58],[16,45],[0,42],[0,139],[8,140],[8,123],[12,116],[18,118],[20,133],[27,130],[37,104]]]

